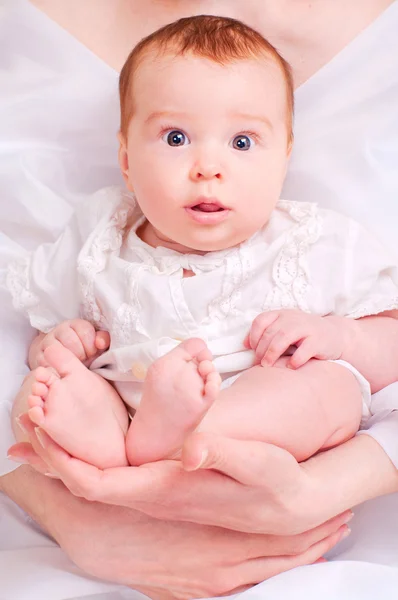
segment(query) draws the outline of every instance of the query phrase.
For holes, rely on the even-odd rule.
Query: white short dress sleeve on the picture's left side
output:
[[[84,200],[56,242],[42,244],[8,266],[6,286],[13,307],[35,329],[48,333],[58,323],[80,316],[78,256],[105,200],[100,193]]]

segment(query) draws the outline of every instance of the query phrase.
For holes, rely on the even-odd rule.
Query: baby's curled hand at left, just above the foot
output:
[[[43,352],[54,343],[61,343],[86,366],[101,352],[109,348],[107,331],[96,331],[91,323],[83,319],[72,319],[60,323],[47,333],[37,347],[37,364],[46,366]]]

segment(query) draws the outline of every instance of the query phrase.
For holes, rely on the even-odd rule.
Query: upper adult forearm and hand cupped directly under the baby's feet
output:
[[[196,434],[184,448],[185,469],[177,461],[159,461],[101,471],[70,457],[43,431],[38,443],[29,419],[23,424],[34,450],[15,446],[14,456],[30,461],[38,455],[79,497],[160,519],[293,535],[398,491],[396,467],[368,435],[299,464],[270,444]]]

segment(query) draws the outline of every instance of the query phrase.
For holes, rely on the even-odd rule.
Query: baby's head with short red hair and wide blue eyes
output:
[[[127,59],[120,103],[122,173],[159,244],[221,250],[268,221],[292,145],[293,83],[259,33],[207,15],[166,25]]]

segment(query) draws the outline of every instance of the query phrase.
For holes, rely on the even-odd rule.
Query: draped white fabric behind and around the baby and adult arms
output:
[[[26,372],[32,331],[11,311],[2,269],[21,248],[56,238],[83,194],[121,180],[117,74],[27,0],[3,0],[0,8],[0,473],[5,473],[17,466],[4,459],[13,442],[9,406]],[[283,195],[339,208],[381,234],[398,255],[397,31],[395,3],[298,90],[296,145]],[[380,401],[394,404],[396,392]],[[390,435],[391,455],[397,450],[398,434]],[[242,597],[394,600],[397,509],[397,496],[357,507],[353,533],[331,553],[330,563],[282,574]],[[0,495],[0,600],[141,597],[84,576]]]

